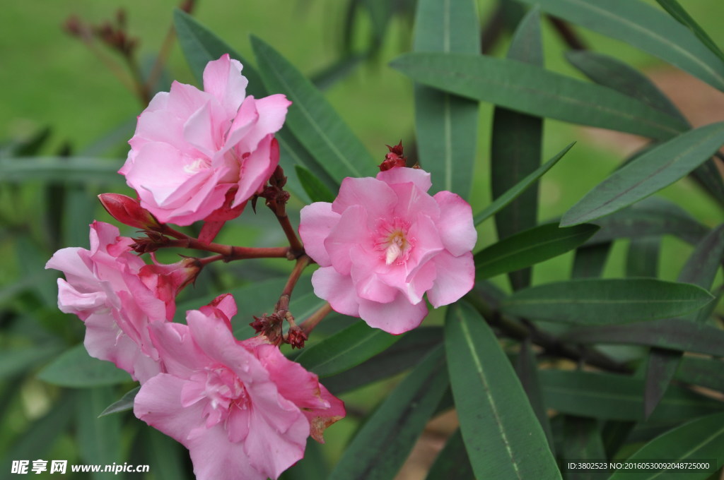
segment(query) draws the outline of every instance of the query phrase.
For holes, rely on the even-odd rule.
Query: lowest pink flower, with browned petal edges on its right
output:
[[[189,311],[187,325],[151,325],[167,373],[141,386],[133,411],[188,448],[198,480],[276,479],[345,408],[279,348],[236,340],[234,314],[226,294]]]

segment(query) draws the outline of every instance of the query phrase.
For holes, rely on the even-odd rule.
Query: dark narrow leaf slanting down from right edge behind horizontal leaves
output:
[[[694,252],[686,261],[678,281],[693,283],[702,288],[711,288],[714,277],[719,270],[724,256],[724,225],[715,228],[696,245]],[[694,312],[686,317],[686,320],[695,322],[699,320],[701,313]],[[707,312],[708,313],[708,312]],[[704,319],[708,314],[704,316]],[[666,392],[669,383],[676,374],[682,353],[662,348],[652,348],[649,352],[647,364],[645,413],[649,416],[656,408],[659,400]]]

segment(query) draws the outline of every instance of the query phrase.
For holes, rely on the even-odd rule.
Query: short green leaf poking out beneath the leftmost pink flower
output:
[[[51,364],[44,367],[38,378],[62,387],[100,387],[130,382],[129,374],[110,361],[94,359],[83,344],[64,351]]]

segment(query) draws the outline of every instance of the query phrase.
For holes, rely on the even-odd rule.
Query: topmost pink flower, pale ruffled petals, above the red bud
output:
[[[291,103],[285,95],[245,96],[241,70],[228,54],[210,61],[203,90],[174,82],[138,116],[119,173],[159,221],[235,218],[277,167],[274,132]]]

